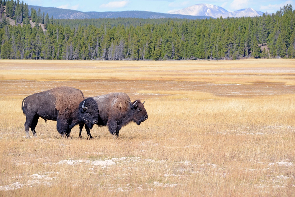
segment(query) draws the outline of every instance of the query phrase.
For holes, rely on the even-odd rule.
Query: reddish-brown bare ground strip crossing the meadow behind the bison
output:
[[[294,94],[295,86],[284,83],[257,82],[253,84],[215,84],[190,81],[133,81],[133,80],[75,80],[75,81],[1,81],[0,96],[28,96],[58,86],[81,89],[85,96],[98,96],[110,92],[125,92],[130,97],[150,98],[155,94],[138,94],[138,91],[197,91],[212,93],[216,96],[263,96]],[[158,95],[160,96],[160,95]]]

